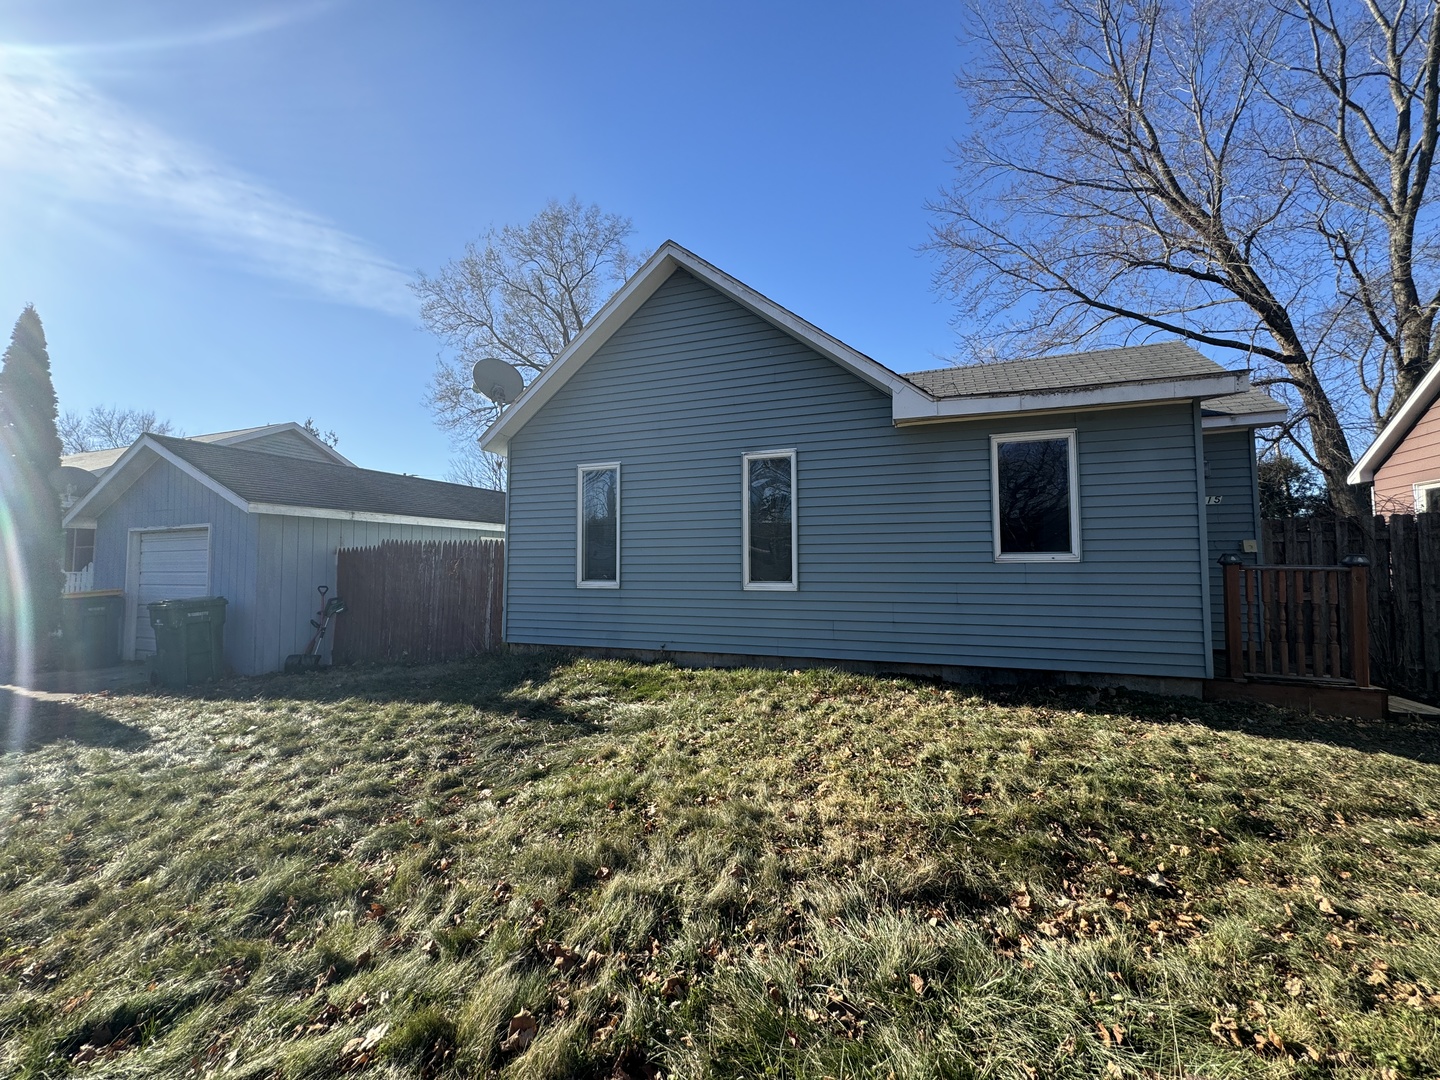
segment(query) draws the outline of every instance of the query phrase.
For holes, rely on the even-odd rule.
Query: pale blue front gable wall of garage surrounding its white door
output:
[[[125,589],[130,530],[180,526],[210,527],[212,596],[223,596],[225,662],[235,671],[253,670],[253,609],[245,600],[255,593],[255,518],[157,459],[109,505],[95,523],[95,589]],[[127,618],[134,618],[127,595]]]

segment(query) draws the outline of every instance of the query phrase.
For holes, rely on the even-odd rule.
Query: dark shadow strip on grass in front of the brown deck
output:
[[[1361,753],[1390,753],[1421,765],[1440,765],[1440,724],[1427,720],[1351,720],[1292,713],[1263,704],[1197,701],[1119,691],[1113,697],[1083,687],[978,690],[994,704],[1120,714],[1161,724],[1201,724],[1215,732],[1243,732],[1259,739],[1326,743]]]

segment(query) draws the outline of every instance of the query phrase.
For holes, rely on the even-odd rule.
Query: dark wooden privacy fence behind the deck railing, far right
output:
[[[1375,681],[1440,697],[1440,514],[1365,521],[1267,520],[1261,562],[1279,566],[1369,559],[1369,658]]]

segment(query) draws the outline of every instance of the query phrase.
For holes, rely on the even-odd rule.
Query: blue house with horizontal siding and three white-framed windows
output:
[[[1198,693],[1282,418],[1175,343],[897,374],[665,243],[481,442],[505,639]]]

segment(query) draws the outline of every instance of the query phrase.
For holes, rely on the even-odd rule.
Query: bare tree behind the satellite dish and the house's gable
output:
[[[435,276],[419,275],[412,288],[420,320],[452,350],[436,363],[425,397],[461,455],[452,478],[504,480],[503,465],[484,464],[475,449],[497,416],[472,389],[475,361],[505,360],[528,384],[644,259],[625,243],[632,232],[628,217],[573,196],[552,199],[526,225],[490,229]]]

